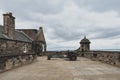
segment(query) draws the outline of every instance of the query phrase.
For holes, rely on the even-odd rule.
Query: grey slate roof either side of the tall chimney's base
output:
[[[0,38],[9,39],[5,34],[3,34],[3,26],[0,25]],[[15,30],[14,39],[17,41],[32,42],[32,40],[22,31]]]

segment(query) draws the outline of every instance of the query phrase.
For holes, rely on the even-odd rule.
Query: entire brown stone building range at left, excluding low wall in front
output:
[[[19,50],[16,51],[22,50],[24,53],[27,53],[30,50],[28,48],[33,47],[29,46],[28,43],[38,41],[39,44],[36,48],[38,48],[39,54],[43,54],[43,51],[46,51],[46,41],[41,27],[40,30],[15,29],[15,17],[12,13],[3,14],[3,23],[4,25],[0,26],[0,47],[7,47],[7,49],[19,47],[17,48]],[[5,39],[10,41],[5,42]],[[17,41],[21,43],[17,43]]]

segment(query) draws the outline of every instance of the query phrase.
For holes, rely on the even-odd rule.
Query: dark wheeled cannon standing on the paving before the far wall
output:
[[[76,61],[77,60],[77,53],[74,51],[67,51],[65,54],[62,54],[61,52],[48,54],[47,60],[51,60],[51,58],[68,58],[70,61]]]

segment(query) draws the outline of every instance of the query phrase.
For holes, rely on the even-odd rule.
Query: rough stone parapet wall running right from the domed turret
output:
[[[90,51],[81,53],[80,56],[120,67],[120,52],[117,51]]]

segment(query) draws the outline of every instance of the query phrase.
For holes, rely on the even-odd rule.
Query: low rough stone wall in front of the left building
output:
[[[36,54],[0,55],[0,73],[25,64],[30,64],[36,58]]]

